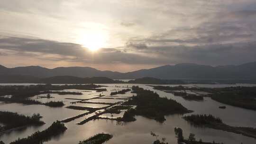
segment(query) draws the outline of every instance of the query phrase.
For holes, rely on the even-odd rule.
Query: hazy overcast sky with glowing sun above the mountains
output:
[[[0,64],[128,72],[256,61],[256,0],[1,0]]]

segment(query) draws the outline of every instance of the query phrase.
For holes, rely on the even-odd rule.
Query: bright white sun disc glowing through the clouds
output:
[[[104,47],[107,43],[107,35],[104,31],[91,30],[81,33],[78,43],[92,52]]]

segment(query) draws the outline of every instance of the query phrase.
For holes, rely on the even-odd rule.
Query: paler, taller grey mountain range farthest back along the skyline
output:
[[[256,79],[256,62],[241,65],[209,66],[195,63],[164,65],[134,72],[100,71],[91,67],[57,67],[48,69],[40,66],[7,68],[0,65],[0,75],[27,75],[38,78],[54,76],[108,77],[110,79],[137,79],[153,77],[157,79]]]

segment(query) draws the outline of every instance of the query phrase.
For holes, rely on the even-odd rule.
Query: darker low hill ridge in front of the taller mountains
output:
[[[162,80],[143,77],[130,81],[112,80],[107,77],[79,78],[74,76],[54,76],[38,78],[29,75],[0,75],[0,83],[42,83],[42,84],[236,84],[256,83],[256,80]]]

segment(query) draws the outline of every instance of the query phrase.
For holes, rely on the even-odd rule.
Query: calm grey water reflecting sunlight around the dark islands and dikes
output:
[[[10,85],[10,84],[8,84]],[[14,84],[13,84],[14,85]],[[27,84],[28,85],[28,84]],[[194,110],[193,114],[212,114],[216,117],[221,117],[223,122],[231,125],[231,126],[251,126],[256,127],[256,111],[248,110],[244,108],[232,107],[229,105],[221,104],[216,102],[210,98],[204,98],[204,101],[188,101],[184,100],[181,97],[174,96],[171,93],[165,93],[164,91],[154,90],[152,87],[141,85],[141,84],[104,84],[109,87],[106,87],[107,91],[100,92],[101,95],[109,96],[111,90],[122,90],[126,88],[115,88],[115,85],[121,87],[129,87],[133,85],[138,85],[144,89],[156,91],[161,97],[167,97],[171,99],[175,99],[180,102],[184,107]],[[256,86],[255,84],[238,84],[241,86]],[[170,85],[175,86],[175,85]],[[197,87],[228,87],[228,86],[236,86],[236,85],[224,85],[224,84],[197,84],[197,85],[184,85],[184,86],[197,86]],[[67,91],[67,90],[64,90]],[[82,91],[82,90],[68,90],[68,91]],[[48,126],[51,125],[55,120],[63,120],[68,117],[73,117],[86,111],[83,110],[73,110],[65,108],[66,106],[72,105],[70,102],[76,100],[70,100],[65,98],[75,98],[75,99],[90,99],[97,97],[100,93],[95,91],[91,92],[82,92],[83,95],[58,95],[51,94],[52,99],[37,99],[42,102],[46,102],[49,100],[63,100],[65,106],[63,108],[50,108],[46,106],[40,105],[29,105],[24,106],[21,104],[5,104],[0,103],[0,111],[8,110],[12,112],[18,112],[24,115],[32,115],[33,113],[40,113],[43,116],[43,121],[46,122],[43,126],[30,126],[25,129],[21,129],[18,131],[12,131],[9,134],[4,134],[0,136],[0,140],[9,144],[10,142],[16,140],[18,137],[27,137],[27,135],[31,135],[37,130],[44,130]],[[116,95],[119,97],[127,97],[132,96],[133,94],[127,92],[124,95]],[[43,95],[44,96],[44,95]],[[31,98],[36,99],[37,96]],[[91,101],[99,101],[99,102],[116,102],[116,100],[120,99],[92,99]],[[92,107],[92,108],[101,108],[105,105],[98,104],[83,104],[78,103],[77,106],[84,107]],[[219,106],[226,106],[226,109],[219,109]],[[113,117],[120,117],[123,113],[119,115],[113,115]],[[247,136],[233,134],[221,130],[215,130],[210,128],[199,128],[191,126],[181,117],[182,115],[170,115],[166,116],[166,121],[161,124],[156,122],[155,120],[148,119],[145,117],[137,116],[137,121],[129,122],[124,125],[118,125],[116,121],[111,120],[95,120],[90,121],[84,125],[76,125],[76,123],[81,122],[87,117],[90,117],[94,114],[90,114],[84,117],[80,117],[71,121],[69,123],[65,123],[68,127],[68,130],[63,134],[57,137],[52,138],[50,141],[45,144],[78,144],[79,141],[89,138],[92,135],[97,133],[110,133],[113,136],[107,144],[152,144],[155,140],[155,137],[150,135],[150,132],[153,131],[159,135],[159,137],[165,137],[166,141],[169,144],[176,144],[177,140],[174,134],[174,127],[181,127],[183,129],[184,137],[188,137],[189,133],[194,133],[196,139],[202,139],[203,141],[212,142],[223,142],[225,144],[256,144],[256,139],[249,138]],[[190,114],[189,114],[190,115]],[[111,117],[110,114],[102,115],[102,117]]]

